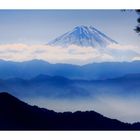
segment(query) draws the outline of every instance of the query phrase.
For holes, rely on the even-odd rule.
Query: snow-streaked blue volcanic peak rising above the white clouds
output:
[[[106,47],[110,44],[117,44],[116,41],[92,26],[77,26],[60,37],[50,41],[47,45],[68,47],[70,45],[84,47]]]

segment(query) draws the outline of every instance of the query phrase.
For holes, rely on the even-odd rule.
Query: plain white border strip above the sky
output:
[[[139,0],[0,0],[0,9],[139,9]]]

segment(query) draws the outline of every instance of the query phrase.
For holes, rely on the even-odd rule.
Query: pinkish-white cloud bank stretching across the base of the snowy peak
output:
[[[50,63],[78,65],[105,61],[133,61],[140,60],[140,47],[116,44],[106,48],[7,44],[0,45],[0,59],[10,61],[41,59]]]

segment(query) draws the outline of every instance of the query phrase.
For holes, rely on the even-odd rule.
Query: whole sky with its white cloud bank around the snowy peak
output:
[[[0,59],[76,65],[140,60],[140,37],[134,31],[137,18],[133,10],[0,10]],[[119,44],[106,48],[46,45],[81,25],[93,26]]]

